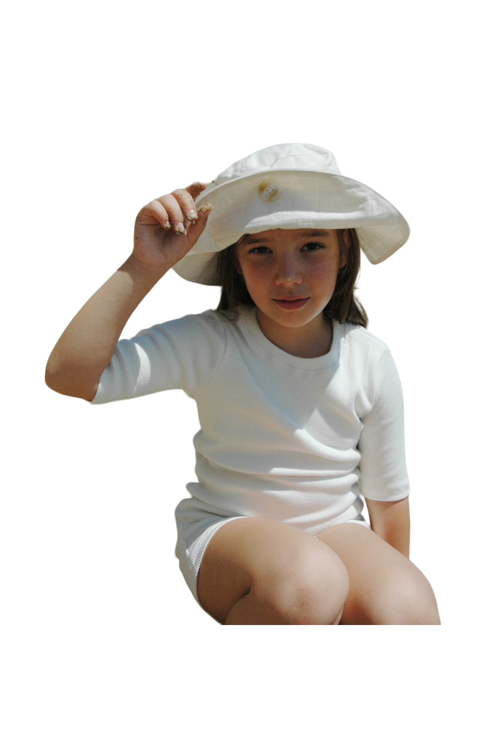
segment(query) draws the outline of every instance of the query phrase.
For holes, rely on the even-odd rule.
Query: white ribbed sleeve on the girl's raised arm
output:
[[[192,398],[219,366],[225,344],[224,324],[213,311],[140,330],[118,341],[90,404],[101,406],[172,390]]]

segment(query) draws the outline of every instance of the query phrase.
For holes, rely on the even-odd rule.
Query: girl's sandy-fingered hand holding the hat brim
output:
[[[145,203],[135,218],[132,257],[147,267],[167,271],[185,257],[213,210],[208,203],[196,212],[194,198],[205,187],[206,183],[191,183]]]

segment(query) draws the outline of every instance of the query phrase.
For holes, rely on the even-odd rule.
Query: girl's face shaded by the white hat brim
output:
[[[322,311],[333,296],[340,257],[335,230],[273,229],[247,235],[238,246],[246,288],[270,340],[319,337]],[[289,330],[291,328],[291,330]],[[278,343],[276,343],[278,344]]]

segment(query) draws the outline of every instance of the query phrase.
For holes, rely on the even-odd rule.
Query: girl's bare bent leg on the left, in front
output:
[[[349,579],[341,559],[284,523],[226,523],[202,558],[197,591],[224,624],[338,624]]]

